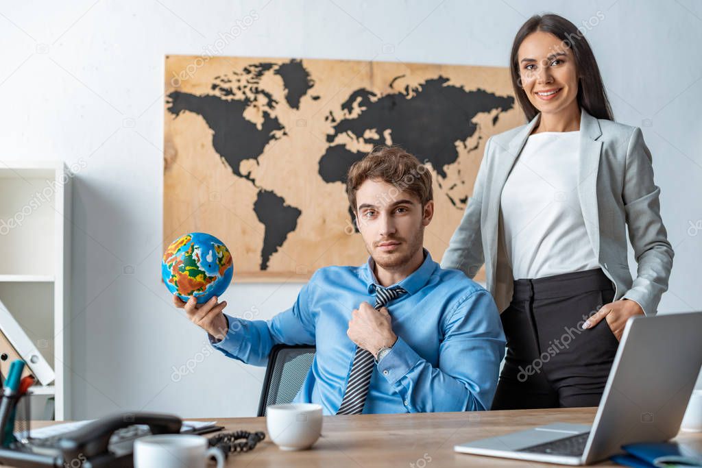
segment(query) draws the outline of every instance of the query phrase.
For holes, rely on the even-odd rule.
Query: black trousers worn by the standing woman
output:
[[[494,410],[597,406],[618,340],[602,319],[585,319],[614,299],[601,269],[515,281],[501,314],[507,356]]]

